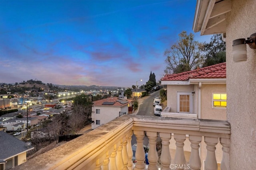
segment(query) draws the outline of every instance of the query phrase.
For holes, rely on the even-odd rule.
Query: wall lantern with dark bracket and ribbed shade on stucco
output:
[[[256,33],[252,34],[247,40],[245,38],[236,39],[233,41],[233,61],[242,62],[247,60],[246,44],[250,48],[256,49]]]

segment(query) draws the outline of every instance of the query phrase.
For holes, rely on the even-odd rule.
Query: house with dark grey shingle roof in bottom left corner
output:
[[[34,149],[30,144],[0,131],[0,169],[8,170],[26,162],[26,153]]]

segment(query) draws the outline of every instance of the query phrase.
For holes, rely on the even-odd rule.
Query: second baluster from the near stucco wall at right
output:
[[[206,143],[206,149],[207,149],[204,169],[217,170],[218,164],[215,156],[215,150],[216,150],[215,146],[218,143],[218,138],[204,136],[204,142]]]

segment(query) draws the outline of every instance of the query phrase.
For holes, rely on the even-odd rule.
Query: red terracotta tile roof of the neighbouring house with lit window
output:
[[[188,79],[220,79],[226,78],[226,62],[207,67],[184,71],[182,73],[166,74],[161,81],[186,81]]]

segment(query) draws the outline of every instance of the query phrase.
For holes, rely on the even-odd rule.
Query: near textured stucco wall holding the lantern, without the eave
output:
[[[230,170],[256,169],[256,51],[234,63],[232,41],[256,32],[256,1],[233,0],[226,29],[227,120],[231,124]]]

